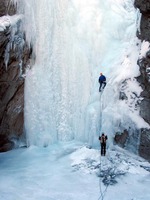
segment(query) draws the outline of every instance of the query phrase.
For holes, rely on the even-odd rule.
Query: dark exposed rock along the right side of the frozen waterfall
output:
[[[137,32],[137,36],[141,41],[150,42],[150,0],[135,0],[135,7],[140,9],[142,14],[140,32]],[[145,58],[138,60],[138,65],[141,75],[137,80],[143,89],[141,93],[143,100],[139,103],[140,115],[150,125],[150,51],[146,53]],[[126,99],[124,93],[120,93],[120,99]],[[122,133],[116,133],[114,141],[123,148],[131,149],[132,152],[137,149],[135,153],[150,161],[149,129],[135,129],[132,133],[130,129],[124,130]]]

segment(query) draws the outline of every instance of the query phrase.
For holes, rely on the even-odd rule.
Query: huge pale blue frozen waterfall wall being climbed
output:
[[[15,2],[36,55],[25,88],[28,144],[77,139],[93,145],[100,130],[114,133],[128,111],[118,109],[119,84],[139,73],[134,1]],[[102,95],[99,72],[107,76]]]

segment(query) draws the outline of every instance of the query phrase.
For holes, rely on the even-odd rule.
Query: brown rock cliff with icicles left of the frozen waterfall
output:
[[[15,14],[10,0],[0,1],[0,16]],[[24,78],[30,50],[21,33],[21,20],[0,32],[0,151],[12,149],[23,136]]]

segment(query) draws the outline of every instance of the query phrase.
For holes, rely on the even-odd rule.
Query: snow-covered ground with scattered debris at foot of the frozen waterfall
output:
[[[0,154],[2,200],[149,200],[150,164],[114,147],[66,143]],[[101,196],[102,195],[102,196]]]

